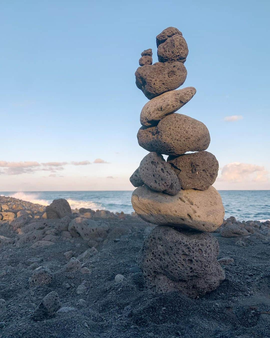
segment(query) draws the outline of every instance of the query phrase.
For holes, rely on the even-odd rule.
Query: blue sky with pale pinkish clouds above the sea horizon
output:
[[[269,12],[254,1],[2,1],[0,191],[133,190],[148,101],[140,53],[177,27],[189,55],[178,113],[205,123],[217,189],[270,189]]]

